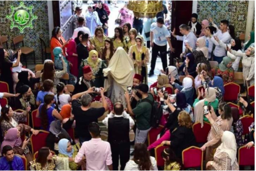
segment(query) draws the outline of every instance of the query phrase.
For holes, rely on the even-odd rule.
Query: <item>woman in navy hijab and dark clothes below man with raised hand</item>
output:
[[[191,75],[194,78],[196,77],[196,67],[195,64],[195,57],[192,53],[186,54],[186,60],[183,62],[181,66],[179,66],[179,63],[176,63],[176,66],[178,68],[178,71],[182,71],[182,75]]]

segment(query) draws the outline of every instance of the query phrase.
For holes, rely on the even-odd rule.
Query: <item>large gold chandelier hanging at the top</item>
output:
[[[127,8],[138,18],[154,18],[164,10],[163,1],[129,1]]]

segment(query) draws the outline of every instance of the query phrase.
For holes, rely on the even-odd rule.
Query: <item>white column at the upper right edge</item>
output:
[[[248,35],[250,35],[250,31],[252,31],[253,14],[254,14],[254,1],[248,1],[246,27],[245,27],[245,42],[248,40]]]

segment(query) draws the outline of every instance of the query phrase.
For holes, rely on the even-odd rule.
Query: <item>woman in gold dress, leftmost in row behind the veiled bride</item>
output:
[[[94,36],[90,38],[90,50],[96,50],[99,53],[99,57],[102,57],[102,50],[105,45],[107,36],[104,35],[102,27],[97,27],[94,32]]]

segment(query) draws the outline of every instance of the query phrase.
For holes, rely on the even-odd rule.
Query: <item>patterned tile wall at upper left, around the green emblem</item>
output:
[[[33,13],[38,18],[32,21],[34,28],[25,28],[23,33],[20,33],[18,28],[10,28],[11,21],[6,18],[10,14],[10,6],[19,6],[20,1],[0,1],[0,33],[8,35],[8,48],[12,47],[12,40],[17,35],[24,36],[24,45],[34,48],[36,60],[41,62],[41,44],[39,37],[42,38],[46,46],[49,46],[49,23],[47,1],[23,1],[25,6],[34,6]],[[33,61],[33,55],[30,55],[28,61]],[[23,60],[23,59],[22,59]]]

